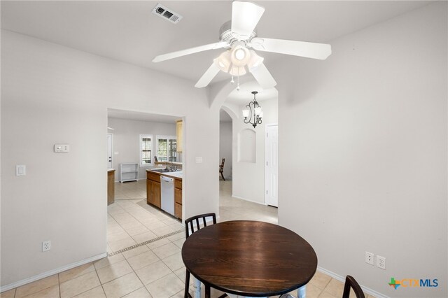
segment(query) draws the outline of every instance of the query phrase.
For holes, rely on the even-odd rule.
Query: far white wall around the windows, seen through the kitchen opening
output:
[[[176,123],[162,123],[153,121],[124,120],[108,118],[108,127],[113,131],[113,151],[118,155],[113,155],[113,167],[115,180],[120,179],[120,164],[126,162],[140,162],[140,135],[153,135],[153,157],[157,156],[157,136],[176,136]],[[152,160],[154,162],[154,158]],[[153,164],[154,166],[154,164]],[[147,167],[139,167],[139,179],[146,179]]]

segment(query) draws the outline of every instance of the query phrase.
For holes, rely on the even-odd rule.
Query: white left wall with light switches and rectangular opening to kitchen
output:
[[[107,108],[183,115],[183,214],[218,213],[219,108],[193,86],[1,31],[2,290],[106,253]],[[71,151],[55,154],[55,143]]]

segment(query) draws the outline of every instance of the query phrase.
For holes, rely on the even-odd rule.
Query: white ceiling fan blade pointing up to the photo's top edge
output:
[[[232,33],[238,34],[241,40],[251,37],[253,29],[264,12],[265,8],[254,3],[234,1],[232,3]]]

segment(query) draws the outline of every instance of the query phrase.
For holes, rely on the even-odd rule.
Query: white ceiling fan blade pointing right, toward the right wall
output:
[[[253,38],[251,45],[255,50],[278,52],[314,59],[327,59],[331,54],[331,45],[325,43],[308,43],[306,41],[286,41],[284,39]]]

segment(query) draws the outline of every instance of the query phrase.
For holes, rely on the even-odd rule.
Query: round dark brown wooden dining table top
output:
[[[301,236],[252,220],[220,222],[194,232],[183,243],[182,259],[204,285],[246,297],[301,288],[317,268],[316,253]]]

